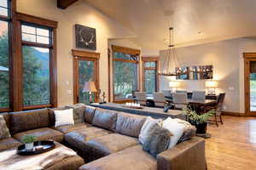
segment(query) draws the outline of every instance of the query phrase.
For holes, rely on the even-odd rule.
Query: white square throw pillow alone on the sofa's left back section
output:
[[[55,127],[73,124],[73,109],[55,111]]]

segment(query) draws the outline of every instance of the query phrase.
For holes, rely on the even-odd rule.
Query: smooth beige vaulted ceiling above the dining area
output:
[[[170,26],[180,46],[256,36],[255,0],[84,1],[134,31],[143,48],[166,48]]]

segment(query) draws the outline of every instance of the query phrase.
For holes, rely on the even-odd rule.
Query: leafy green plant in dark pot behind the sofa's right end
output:
[[[207,120],[210,116],[214,116],[214,110],[208,111],[204,114],[197,114],[196,111],[192,111],[190,108],[183,110],[187,115],[188,121],[196,127],[196,133],[205,134],[207,133]]]

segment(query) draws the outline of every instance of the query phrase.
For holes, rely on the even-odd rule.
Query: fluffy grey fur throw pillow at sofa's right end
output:
[[[144,139],[143,150],[156,157],[160,152],[167,150],[172,133],[158,123],[150,127],[148,136]]]

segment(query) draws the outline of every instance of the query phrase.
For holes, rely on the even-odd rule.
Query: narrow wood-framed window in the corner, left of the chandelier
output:
[[[157,57],[143,57],[143,91],[154,94],[159,88]]]

